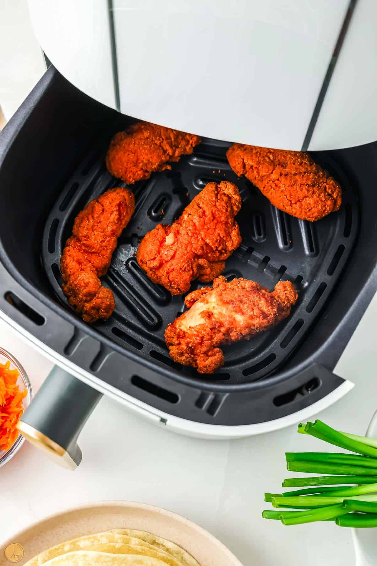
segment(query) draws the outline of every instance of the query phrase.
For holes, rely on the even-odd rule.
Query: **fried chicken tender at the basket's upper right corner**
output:
[[[341,204],[341,188],[304,152],[233,144],[227,158],[274,207],[302,220],[320,220]]]

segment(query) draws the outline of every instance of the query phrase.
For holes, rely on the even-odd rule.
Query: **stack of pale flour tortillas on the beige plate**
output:
[[[200,566],[177,544],[154,534],[133,529],[113,529],[57,544],[29,560],[25,566],[41,566],[41,564]]]

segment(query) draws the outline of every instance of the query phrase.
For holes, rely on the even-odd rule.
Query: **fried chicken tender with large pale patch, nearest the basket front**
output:
[[[168,325],[165,340],[175,362],[193,366],[200,374],[213,374],[224,365],[221,344],[249,340],[285,319],[297,301],[291,281],[279,281],[270,293],[242,277],[227,282],[223,276],[189,293],[189,308]]]

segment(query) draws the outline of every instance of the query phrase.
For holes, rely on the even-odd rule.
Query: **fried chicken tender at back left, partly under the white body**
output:
[[[193,152],[201,139],[149,122],[137,122],[125,132],[115,134],[106,155],[111,175],[128,184],[149,179],[153,171],[171,169],[168,161],[179,161]]]

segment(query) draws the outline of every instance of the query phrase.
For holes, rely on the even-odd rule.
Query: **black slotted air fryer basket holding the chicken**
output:
[[[340,182],[343,203],[312,224],[278,211],[249,181],[237,178],[226,160],[229,143],[204,139],[171,171],[130,187],[135,215],[102,280],[114,291],[115,311],[107,321],[87,324],[60,288],[60,255],[86,203],[124,186],[107,172],[104,157],[111,136],[131,121],[50,67],[3,130],[3,313],[21,332],[101,383],[198,423],[272,421],[339,387],[343,380],[332,370],[377,286],[377,144],[313,155]],[[289,279],[299,298],[283,323],[227,346],[225,366],[200,376],[173,362],[164,343],[164,329],[183,311],[184,297],[171,297],[153,284],[135,255],[148,230],[159,222],[171,224],[207,182],[222,180],[235,182],[242,197],[236,218],[242,243],[224,275],[270,289]],[[192,289],[200,286],[195,281]]]

